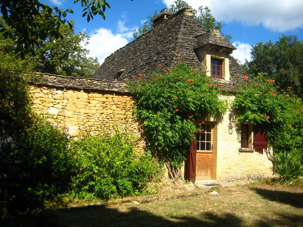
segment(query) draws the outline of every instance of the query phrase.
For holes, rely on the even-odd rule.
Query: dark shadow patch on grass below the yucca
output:
[[[285,192],[277,190],[268,190],[261,188],[254,188],[256,193],[263,196],[265,199],[274,202],[288,204],[297,208],[303,208],[303,193]]]

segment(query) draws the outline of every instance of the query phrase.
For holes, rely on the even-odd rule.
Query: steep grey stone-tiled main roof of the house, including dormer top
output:
[[[138,77],[138,74],[148,74],[150,67],[154,68],[157,64],[168,69],[180,59],[189,67],[205,70],[195,52],[200,44],[221,45],[231,51],[236,49],[216,29],[206,30],[192,14],[192,9],[183,8],[108,56],[92,78],[123,82],[127,78]],[[241,75],[248,76],[231,56],[229,64],[230,80],[220,80],[225,87],[238,84]],[[235,76],[237,74],[240,77]],[[149,79],[146,76],[141,78]]]

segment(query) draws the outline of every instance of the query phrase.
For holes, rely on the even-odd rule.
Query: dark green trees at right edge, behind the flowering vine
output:
[[[264,72],[274,79],[278,87],[286,90],[292,87],[295,93],[303,96],[303,42],[297,36],[285,36],[273,43],[259,42],[251,49],[248,72],[254,77]]]

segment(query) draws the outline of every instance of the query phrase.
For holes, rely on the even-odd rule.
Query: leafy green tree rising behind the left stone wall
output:
[[[86,32],[75,33],[74,21],[72,28],[63,25],[60,28],[60,38],[49,37],[47,41],[40,41],[35,48],[36,57],[34,71],[73,76],[91,77],[98,69],[97,58],[87,57],[89,50],[82,47],[88,44],[89,36]]]

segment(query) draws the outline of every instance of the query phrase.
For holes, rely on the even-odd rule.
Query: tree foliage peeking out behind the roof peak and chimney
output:
[[[176,13],[178,12],[180,9],[183,8],[192,8],[190,5],[188,5],[187,2],[183,1],[183,0],[176,0],[175,5],[170,5],[170,11],[172,13]],[[201,22],[201,24],[206,28],[206,29],[219,29],[220,30],[220,34],[222,36],[224,36],[228,41],[230,39],[232,39],[233,37],[231,35],[225,35],[222,32],[222,27],[225,26],[224,24],[222,24],[222,21],[216,21],[216,19],[213,17],[213,15],[211,15],[211,10],[205,6],[203,7],[202,5],[198,8],[198,10],[193,9],[193,15],[196,15],[199,12],[199,16],[197,17],[197,19]],[[153,22],[152,20],[155,19],[155,17],[157,16],[157,11],[155,11],[154,15],[148,15],[148,21],[145,21],[143,23],[142,27],[138,28],[138,31],[136,31],[136,29],[134,30],[133,36],[134,38],[137,38],[138,36],[144,34],[145,32],[149,31],[152,29],[152,25]],[[138,34],[139,32],[139,34]]]

